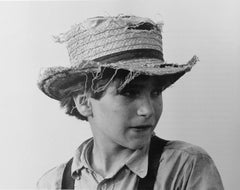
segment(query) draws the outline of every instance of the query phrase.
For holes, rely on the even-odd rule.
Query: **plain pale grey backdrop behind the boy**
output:
[[[234,0],[0,2],[0,188],[35,188],[91,136],[37,88],[42,67],[69,64],[52,35],[97,15],[164,21],[168,62],[200,62],[163,93],[156,133],[203,147],[226,189],[239,185],[240,3]]]

